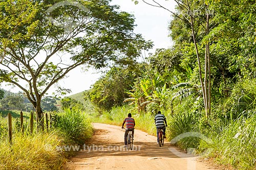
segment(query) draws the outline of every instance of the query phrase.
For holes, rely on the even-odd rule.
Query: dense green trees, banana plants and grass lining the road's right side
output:
[[[255,169],[255,2],[176,2],[174,45],[102,76],[85,95],[97,111],[93,121],[120,126],[131,112],[137,129],[154,134],[161,110],[170,141],[187,135],[175,142],[180,148]]]

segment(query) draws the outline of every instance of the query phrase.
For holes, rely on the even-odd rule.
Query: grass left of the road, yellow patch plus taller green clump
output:
[[[52,128],[44,132],[34,127],[31,134],[25,121],[22,133],[19,119],[13,122],[10,144],[7,118],[0,118],[0,169],[60,169],[67,158],[75,154],[71,146],[82,145],[93,133],[86,113],[80,110],[56,112]]]

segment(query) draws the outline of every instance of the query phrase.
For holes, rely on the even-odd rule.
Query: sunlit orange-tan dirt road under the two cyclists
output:
[[[124,130],[121,127],[94,124],[94,129],[91,142],[80,148],[64,169],[216,169],[207,167],[196,157],[185,158],[187,154],[178,152],[169,143],[160,148],[155,136],[136,129],[133,151],[123,148]]]

